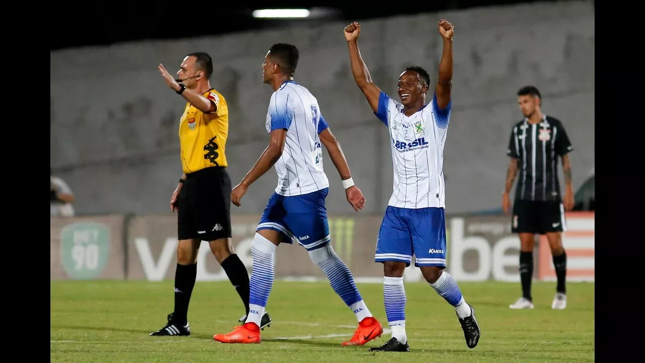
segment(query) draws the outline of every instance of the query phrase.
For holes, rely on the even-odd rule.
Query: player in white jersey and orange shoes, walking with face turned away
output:
[[[298,58],[298,49],[284,43],[273,45],[264,57],[263,81],[275,91],[266,115],[269,146],[242,182],[233,188],[231,202],[239,206],[248,186],[273,165],[278,185],[264,209],[251,246],[253,273],[248,318],[231,333],[215,335],[213,339],[218,342],[261,342],[259,325],[273,285],[275,250],[280,242],[291,244],[293,241],[308,251],[312,262],[323,270],[333,290],[359,322],[353,337],[342,345],[362,345],[383,332],[363,302],[352,273],[330,244],[324,202],[329,182],[323,171],[321,143],[341,174],[347,200],[355,211],[365,206],[365,198],[352,181],[341,145],[324,120],[317,99],[293,81]]]

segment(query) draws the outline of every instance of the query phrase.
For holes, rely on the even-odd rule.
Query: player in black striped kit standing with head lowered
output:
[[[533,309],[531,278],[533,277],[533,245],[535,234],[546,234],[553,256],[556,293],[551,309],[566,307],[566,253],[562,247],[562,232],[566,231],[564,211],[573,208],[571,162],[573,150],[566,130],[559,119],[542,113],[542,96],[533,86],[517,92],[517,102],[524,115],[511,130],[506,154],[510,156],[506,185],[502,194],[502,209],[511,211],[509,196],[515,176],[512,231],[520,238],[520,280],[522,297],[511,304],[511,309]],[[564,197],[560,194],[558,157],[562,158]]]

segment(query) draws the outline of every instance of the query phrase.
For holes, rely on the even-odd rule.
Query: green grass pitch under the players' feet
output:
[[[593,362],[594,284],[569,283],[568,307],[551,310],[555,283],[533,282],[533,310],[511,310],[519,283],[459,283],[482,335],[468,349],[455,310],[428,284],[406,283],[409,353],[372,353],[389,329],[365,346],[344,347],[357,321],[327,282],[277,281],[271,327],[261,344],[220,344],[243,315],[228,281],[197,282],[188,311],[190,337],[149,337],[173,309],[173,282],[52,281],[52,362]],[[357,284],[387,326],[381,284]]]

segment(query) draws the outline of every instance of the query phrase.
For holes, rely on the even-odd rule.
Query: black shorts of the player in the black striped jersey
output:
[[[545,234],[566,231],[564,207],[561,202],[515,200],[511,226],[513,233]]]

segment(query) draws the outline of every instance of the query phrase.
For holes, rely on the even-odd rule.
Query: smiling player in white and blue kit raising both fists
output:
[[[400,102],[372,83],[362,60],[357,39],[359,23],[344,28],[352,74],[372,110],[390,132],[394,165],[392,197],[377,237],[375,261],[383,263],[383,297],[392,338],[370,351],[410,351],[405,331],[406,295],[403,271],[412,262],[428,283],[455,307],[466,345],[477,346],[480,331],[475,311],[466,304],[446,268],[443,149],[450,122],[452,82],[452,36],[454,26],[441,19],[439,34],[443,54],[432,101],[426,103],[430,76],[421,67],[408,67],[399,76]]]

